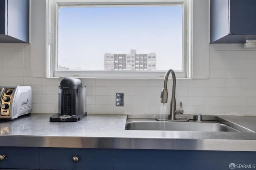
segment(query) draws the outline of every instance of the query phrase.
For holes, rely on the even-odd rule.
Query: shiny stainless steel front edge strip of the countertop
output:
[[[71,136],[0,136],[0,146],[256,151],[256,140],[186,139],[186,138],[117,138]]]

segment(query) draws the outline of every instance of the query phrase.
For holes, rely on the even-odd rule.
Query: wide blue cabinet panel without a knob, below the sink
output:
[[[256,169],[256,152],[127,149],[114,154],[114,170],[229,170],[232,166]]]

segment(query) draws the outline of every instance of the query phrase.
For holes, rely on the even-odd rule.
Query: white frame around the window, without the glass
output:
[[[46,6],[47,18],[47,45],[46,45],[46,75],[47,77],[86,77],[86,78],[162,78],[165,71],[106,71],[106,70],[57,70],[58,56],[58,11],[62,6],[167,6],[182,5],[182,71],[175,71],[177,78],[190,77],[191,65],[191,24],[190,24],[190,0],[166,0],[159,2],[158,0],[129,0],[129,2],[121,2],[121,0],[48,0]],[[171,68],[170,68],[171,69]]]

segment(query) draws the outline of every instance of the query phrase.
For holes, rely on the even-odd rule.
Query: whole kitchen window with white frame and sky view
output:
[[[187,77],[187,0],[50,0],[47,14],[50,77]]]

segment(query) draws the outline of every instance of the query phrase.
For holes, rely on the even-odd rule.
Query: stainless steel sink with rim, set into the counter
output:
[[[184,117],[185,115],[182,115]],[[148,118],[148,119],[143,119]],[[126,130],[181,130],[181,131],[208,131],[208,132],[254,132],[240,125],[222,121],[216,116],[205,117],[208,120],[197,122],[193,116],[188,115],[188,122],[156,121],[154,116],[131,115],[126,121]]]

